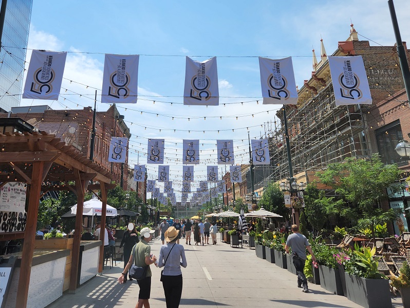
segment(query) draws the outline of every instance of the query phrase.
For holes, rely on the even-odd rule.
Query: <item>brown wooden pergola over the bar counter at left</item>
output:
[[[0,187],[8,182],[27,184],[27,222],[23,232],[0,233],[0,241],[22,239],[24,245],[20,268],[20,280],[17,289],[17,307],[27,306],[30,283],[31,262],[33,259],[34,241],[40,197],[51,190],[71,190],[77,195],[77,215],[72,251],[69,291],[77,288],[77,273],[80,256],[81,226],[84,195],[86,190],[101,190],[102,214],[101,227],[105,227],[107,190],[115,187],[111,184],[108,170],[82,156],[73,146],[55,135],[41,133],[0,133]],[[97,184],[89,184],[90,181]],[[74,181],[75,185],[69,185]],[[104,243],[105,232],[100,238]],[[99,273],[102,272],[104,246],[100,247]]]

